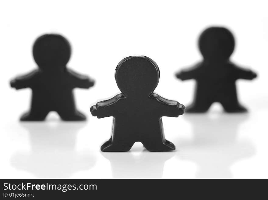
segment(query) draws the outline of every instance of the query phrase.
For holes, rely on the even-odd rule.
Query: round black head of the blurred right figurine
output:
[[[234,51],[234,36],[224,27],[210,27],[200,35],[199,49],[205,60],[228,60]]]

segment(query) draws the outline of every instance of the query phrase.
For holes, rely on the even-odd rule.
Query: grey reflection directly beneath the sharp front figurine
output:
[[[130,152],[103,152],[111,163],[114,178],[161,178],[165,161],[174,152],[148,152],[135,144]]]

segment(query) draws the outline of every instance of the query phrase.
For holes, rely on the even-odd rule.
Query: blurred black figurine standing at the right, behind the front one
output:
[[[252,80],[257,75],[229,60],[234,51],[234,37],[231,32],[224,27],[204,30],[199,37],[199,49],[203,61],[176,73],[178,79],[196,80],[194,101],[186,112],[206,112],[213,102],[220,102],[229,113],[246,112],[247,109],[238,102],[235,81]]]

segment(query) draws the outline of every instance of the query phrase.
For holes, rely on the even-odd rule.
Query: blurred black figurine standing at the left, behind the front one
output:
[[[72,90],[90,88],[94,81],[66,67],[71,56],[69,42],[58,34],[38,37],[33,45],[33,58],[39,69],[11,80],[12,88],[32,89],[30,111],[21,121],[44,120],[50,111],[56,111],[62,120],[80,121],[86,116],[75,106]]]

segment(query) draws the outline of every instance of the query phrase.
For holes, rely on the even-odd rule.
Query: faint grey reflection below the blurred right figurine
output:
[[[192,141],[178,141],[180,155],[198,165],[198,178],[232,177],[231,166],[255,154],[249,141],[238,140],[238,128],[248,114],[185,114],[192,125]],[[252,133],[253,134],[253,133]]]

